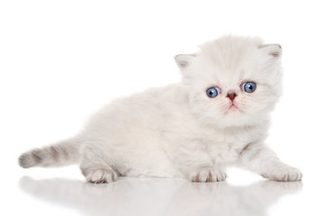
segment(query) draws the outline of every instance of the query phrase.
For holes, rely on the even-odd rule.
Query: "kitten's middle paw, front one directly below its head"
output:
[[[190,175],[192,182],[221,182],[226,177],[226,173],[215,169],[202,169]]]

